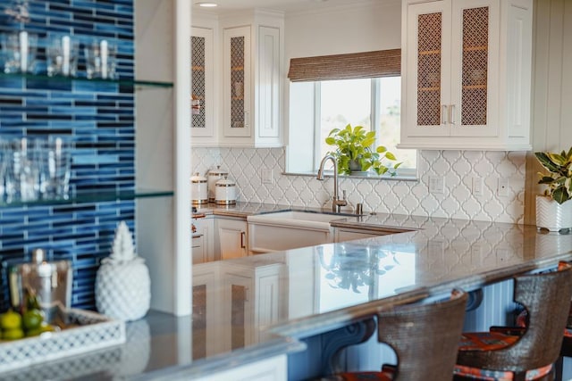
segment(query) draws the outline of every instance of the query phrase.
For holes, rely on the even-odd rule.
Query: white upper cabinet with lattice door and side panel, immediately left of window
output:
[[[283,15],[223,18],[223,123],[219,145],[282,146]]]

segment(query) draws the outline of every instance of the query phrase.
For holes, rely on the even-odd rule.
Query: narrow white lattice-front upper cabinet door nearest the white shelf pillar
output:
[[[214,29],[193,27],[191,33],[191,142],[195,146],[210,146],[217,139],[214,128]]]

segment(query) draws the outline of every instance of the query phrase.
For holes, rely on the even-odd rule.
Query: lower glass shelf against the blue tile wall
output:
[[[172,197],[173,194],[174,193],[172,191],[151,190],[151,189],[137,189],[137,190],[118,191],[118,192],[86,191],[86,192],[77,192],[75,194],[69,195],[68,198],[59,198],[59,199],[38,199],[30,201],[14,200],[9,203],[6,202],[5,200],[0,200],[0,209],[21,207],[21,206],[127,201],[127,200],[134,200],[136,198]]]

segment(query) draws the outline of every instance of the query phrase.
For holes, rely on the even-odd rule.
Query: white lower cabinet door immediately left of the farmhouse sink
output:
[[[217,260],[248,255],[248,227],[245,219],[216,216],[214,255]]]

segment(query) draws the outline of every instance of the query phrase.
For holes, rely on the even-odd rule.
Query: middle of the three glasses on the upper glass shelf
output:
[[[80,44],[70,36],[53,37],[46,47],[47,75],[75,77]]]

